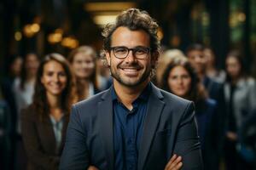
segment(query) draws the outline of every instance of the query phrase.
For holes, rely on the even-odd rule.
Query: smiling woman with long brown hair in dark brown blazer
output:
[[[73,101],[72,82],[68,62],[61,54],[44,57],[32,105],[21,114],[27,169],[58,169]]]

